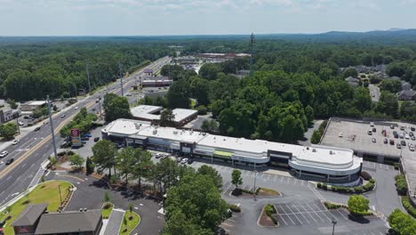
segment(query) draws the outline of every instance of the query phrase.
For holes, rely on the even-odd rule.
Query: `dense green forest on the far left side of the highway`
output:
[[[48,42],[0,45],[0,97],[16,101],[42,100],[88,91],[86,63],[92,89],[141,63],[169,53],[165,45],[108,42]]]

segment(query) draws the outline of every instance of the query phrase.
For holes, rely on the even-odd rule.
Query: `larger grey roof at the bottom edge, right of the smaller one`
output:
[[[35,234],[95,231],[101,221],[101,210],[64,212],[42,215]]]

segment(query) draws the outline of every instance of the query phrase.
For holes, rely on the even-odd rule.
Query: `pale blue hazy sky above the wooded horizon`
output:
[[[0,36],[321,33],[416,28],[416,0],[0,0]]]

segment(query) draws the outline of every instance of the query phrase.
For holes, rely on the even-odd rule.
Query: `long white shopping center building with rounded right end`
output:
[[[150,122],[131,119],[113,121],[101,130],[101,134],[103,139],[134,148],[222,159],[233,165],[285,166],[300,177],[310,175],[324,182],[357,182],[363,164],[363,159],[348,149],[247,140],[153,126]]]

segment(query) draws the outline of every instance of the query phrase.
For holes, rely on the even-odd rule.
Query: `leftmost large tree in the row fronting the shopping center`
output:
[[[113,142],[101,140],[92,146],[92,162],[102,172],[108,169],[108,176],[111,178],[111,168],[116,165],[116,147]]]

